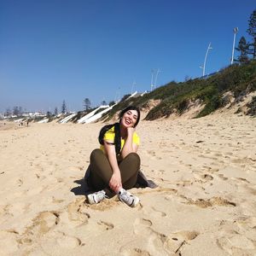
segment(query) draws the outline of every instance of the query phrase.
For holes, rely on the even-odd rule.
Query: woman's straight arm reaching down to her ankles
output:
[[[104,141],[104,149],[108,157],[109,164],[112,168],[113,175],[108,183],[109,187],[114,192],[118,192],[122,188],[121,174],[119,170],[118,161],[116,159],[115,147],[112,142]]]

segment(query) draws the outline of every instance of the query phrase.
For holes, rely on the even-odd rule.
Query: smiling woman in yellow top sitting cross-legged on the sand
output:
[[[129,106],[119,114],[119,123],[106,125],[100,131],[101,147],[90,154],[90,174],[87,175],[89,185],[98,191],[87,195],[90,204],[102,201],[106,190],[111,189],[129,207],[137,206],[138,197],[126,189],[137,183],[140,169],[137,154],[140,139],[135,131],[139,120],[139,109]]]

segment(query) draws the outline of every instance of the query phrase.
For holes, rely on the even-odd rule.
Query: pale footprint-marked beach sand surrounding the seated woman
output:
[[[84,203],[102,123],[0,125],[0,255],[256,255],[256,119],[142,121],[157,189]]]

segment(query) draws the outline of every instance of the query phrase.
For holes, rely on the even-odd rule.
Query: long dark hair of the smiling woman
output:
[[[98,141],[100,144],[104,145],[104,135],[105,133],[111,129],[113,126],[114,126],[114,147],[115,147],[115,153],[116,154],[119,154],[120,153],[120,150],[121,150],[121,134],[120,134],[120,121],[123,117],[123,115],[129,111],[129,110],[136,110],[137,111],[137,121],[136,123],[134,124],[134,127],[137,126],[137,124],[139,123],[140,121],[140,118],[141,118],[141,113],[140,113],[140,110],[139,108],[135,107],[135,106],[129,106],[125,109],[123,109],[120,113],[119,113],[119,123],[114,123],[112,125],[105,125],[102,127],[102,130],[100,131],[100,134],[99,134],[99,137],[98,137]]]

